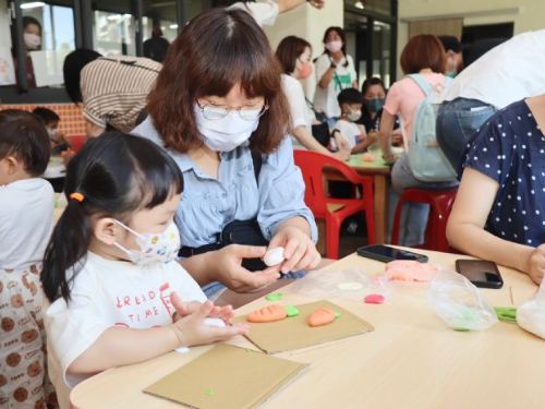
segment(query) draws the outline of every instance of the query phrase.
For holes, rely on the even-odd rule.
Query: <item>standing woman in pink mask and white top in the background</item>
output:
[[[347,37],[341,27],[329,27],[324,34],[325,50],[316,60],[316,93],[314,108],[327,118],[339,118],[339,93],[348,87],[358,88],[352,57],[347,55]]]

